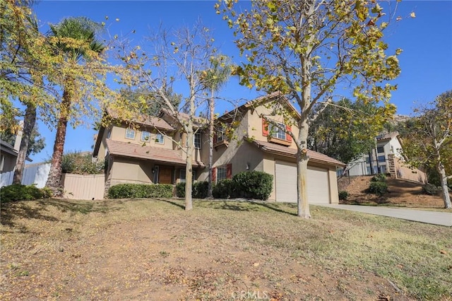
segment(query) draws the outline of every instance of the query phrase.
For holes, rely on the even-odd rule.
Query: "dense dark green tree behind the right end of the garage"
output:
[[[383,124],[371,119],[377,115],[389,118],[391,113],[385,107],[346,98],[331,102],[309,126],[309,148],[348,164],[375,148],[375,137]]]

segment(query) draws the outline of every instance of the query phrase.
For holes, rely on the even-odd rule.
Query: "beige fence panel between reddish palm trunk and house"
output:
[[[61,182],[67,199],[104,199],[105,175],[63,174]]]

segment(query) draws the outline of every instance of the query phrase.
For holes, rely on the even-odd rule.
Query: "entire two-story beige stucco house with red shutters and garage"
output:
[[[299,116],[282,95],[273,93],[246,102],[218,118],[213,150],[214,182],[244,171],[267,172],[273,175],[270,201],[297,201],[297,146],[287,131],[297,136],[298,129],[285,125],[282,110],[290,112],[295,119]],[[160,117],[139,117],[133,123],[136,128],[117,119],[117,124],[99,131],[93,155],[107,160],[106,186],[184,181],[186,134],[177,120],[164,113]],[[194,179],[197,181],[208,179],[208,133],[203,124],[206,121],[199,119],[195,129]],[[309,157],[309,202],[338,203],[336,168],[344,164],[314,151],[309,151]]]

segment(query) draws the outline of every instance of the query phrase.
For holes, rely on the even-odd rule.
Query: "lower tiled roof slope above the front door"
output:
[[[107,147],[110,155],[119,155],[122,157],[139,158],[147,160],[155,160],[162,163],[172,163],[185,165],[186,160],[178,151],[167,148],[156,148],[153,146],[142,146],[136,143],[126,143],[106,139]],[[201,161],[193,161],[193,165],[197,167],[206,167]]]

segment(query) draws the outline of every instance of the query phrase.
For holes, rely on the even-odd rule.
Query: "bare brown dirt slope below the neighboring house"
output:
[[[387,178],[388,193],[384,196],[367,194],[371,176],[343,177],[338,180],[339,191],[347,191],[347,200],[340,203],[362,205],[386,205],[410,208],[444,208],[441,195],[430,196],[422,193],[422,184],[403,179]]]

